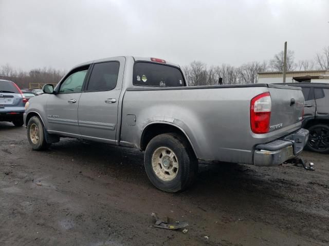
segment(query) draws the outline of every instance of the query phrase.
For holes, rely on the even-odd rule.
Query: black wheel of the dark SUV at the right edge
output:
[[[329,153],[329,126],[324,124],[308,128],[307,148],[318,153]]]

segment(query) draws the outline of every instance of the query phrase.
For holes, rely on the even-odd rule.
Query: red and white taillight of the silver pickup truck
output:
[[[262,93],[251,99],[250,103],[250,126],[253,133],[267,133],[271,118],[271,95],[269,92]]]

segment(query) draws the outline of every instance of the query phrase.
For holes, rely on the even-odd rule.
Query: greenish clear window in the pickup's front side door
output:
[[[61,84],[59,94],[76,93],[82,91],[84,79],[88,69],[71,73]]]

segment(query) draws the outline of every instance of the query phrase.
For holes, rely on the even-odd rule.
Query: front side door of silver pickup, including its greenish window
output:
[[[78,106],[88,71],[82,67],[70,72],[47,100],[48,131],[78,136]]]

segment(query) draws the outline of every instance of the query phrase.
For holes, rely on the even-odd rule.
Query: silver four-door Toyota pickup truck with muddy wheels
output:
[[[186,189],[198,160],[280,165],[301,153],[301,88],[251,84],[189,87],[179,66],[132,56],[90,61],[26,104],[33,150],[74,137],[144,151],[154,186]]]

